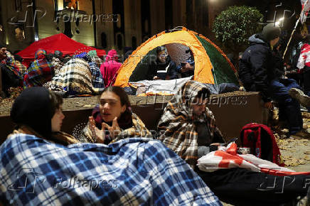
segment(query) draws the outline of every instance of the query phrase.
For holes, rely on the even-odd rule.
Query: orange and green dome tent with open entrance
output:
[[[178,31],[161,32],[142,43],[119,68],[114,85],[128,87],[129,82],[146,80],[149,59],[151,55],[156,55],[155,49],[161,45],[171,45],[170,48],[175,45],[174,51],[177,52],[174,53],[180,56],[185,53],[185,50],[178,50],[176,45],[191,49],[195,60],[193,80],[215,86],[221,83],[239,85],[235,67],[223,51],[208,38],[184,27]],[[169,50],[168,46],[167,48]],[[171,55],[170,52],[169,55]],[[173,55],[171,58],[173,59]]]

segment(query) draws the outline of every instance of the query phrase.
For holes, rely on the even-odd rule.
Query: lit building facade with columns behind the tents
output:
[[[65,33],[85,45],[123,52],[177,26],[207,36],[208,6],[201,0],[2,0],[0,43],[14,52]]]

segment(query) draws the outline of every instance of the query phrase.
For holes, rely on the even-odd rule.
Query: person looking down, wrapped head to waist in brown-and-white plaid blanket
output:
[[[164,131],[159,139],[192,168],[198,160],[198,148],[224,142],[212,112],[205,107],[209,96],[202,83],[186,82],[167,104],[158,124],[159,131]]]

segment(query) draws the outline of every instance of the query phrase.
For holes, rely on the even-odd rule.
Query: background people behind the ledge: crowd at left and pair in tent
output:
[[[23,65],[23,59],[19,55],[12,55],[6,50],[6,47],[1,45],[0,47],[2,88],[6,96],[9,96],[10,87],[26,89],[27,87],[38,86],[45,86],[50,90],[70,94],[73,94],[73,90],[87,94],[96,90],[95,88],[103,89],[114,85],[118,70],[122,66],[122,63],[119,62],[122,61],[122,58],[119,58],[116,50],[109,50],[107,55],[99,58],[95,50],[70,56],[63,55],[59,50],[54,53],[46,53],[46,50],[39,49],[35,53],[33,62],[26,67],[26,63]],[[147,80],[173,80],[193,76],[195,62],[191,50],[186,50],[186,53],[190,53],[191,56],[179,65],[173,62],[164,45],[155,50],[156,60],[148,63],[149,70],[145,77]],[[132,52],[132,50],[128,50],[123,59],[126,60]],[[80,67],[87,67],[90,73],[76,72],[75,68]],[[69,70],[71,75],[68,74]],[[85,71],[87,71],[86,68]],[[87,76],[87,80],[84,78],[82,81],[88,83],[86,85],[69,84],[68,82],[77,76],[74,76],[73,73],[79,72],[81,74],[78,78]],[[74,88],[70,88],[70,85],[75,85],[75,88],[86,87],[87,89],[76,91]]]

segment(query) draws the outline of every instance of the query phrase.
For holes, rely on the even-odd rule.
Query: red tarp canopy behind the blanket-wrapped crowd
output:
[[[82,52],[89,52],[90,50],[97,50],[97,55],[99,57],[105,55],[105,50],[98,50],[91,46],[79,43],[68,38],[68,36],[65,36],[63,33],[58,33],[38,40],[17,54],[23,58],[23,64],[29,65],[34,60],[36,51],[40,48],[46,50],[47,53],[54,53],[55,50],[60,50],[63,55],[77,55]]]

